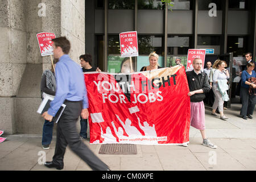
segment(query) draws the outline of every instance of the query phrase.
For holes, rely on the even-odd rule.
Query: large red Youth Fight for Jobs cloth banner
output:
[[[118,75],[85,73],[90,143],[189,142],[190,99],[184,67]]]

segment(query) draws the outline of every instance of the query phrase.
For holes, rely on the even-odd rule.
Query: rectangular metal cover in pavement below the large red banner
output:
[[[137,147],[135,144],[102,144],[98,154],[135,155]]]

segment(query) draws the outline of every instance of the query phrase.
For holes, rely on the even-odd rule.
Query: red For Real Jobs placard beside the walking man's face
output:
[[[42,56],[53,55],[52,39],[55,39],[55,34],[49,32],[42,32],[36,34],[38,44]]]

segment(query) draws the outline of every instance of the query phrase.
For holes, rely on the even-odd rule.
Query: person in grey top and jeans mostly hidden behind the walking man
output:
[[[58,59],[53,60],[54,67],[59,61]],[[52,69],[45,70],[42,75],[41,79],[41,97],[43,99],[44,94],[48,94],[52,97],[55,96],[56,93],[56,78],[55,78],[55,73],[54,69],[52,66]],[[49,149],[49,144],[52,142],[52,130],[53,130],[53,124],[54,121],[44,121],[44,126],[43,126],[43,137],[42,137],[42,147],[43,149]]]

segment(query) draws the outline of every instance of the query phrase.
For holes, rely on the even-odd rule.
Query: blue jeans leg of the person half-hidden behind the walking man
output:
[[[42,145],[51,144],[54,122],[44,121]]]

